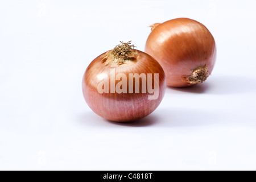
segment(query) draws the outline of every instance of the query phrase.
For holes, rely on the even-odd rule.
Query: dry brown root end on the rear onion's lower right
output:
[[[185,76],[183,81],[187,81],[190,85],[200,84],[207,80],[209,76],[208,67],[199,67],[191,71],[191,75]]]

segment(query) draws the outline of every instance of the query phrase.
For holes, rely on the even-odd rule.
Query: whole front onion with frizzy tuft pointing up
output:
[[[96,57],[82,78],[85,101],[94,113],[110,121],[146,117],[158,107],[166,89],[163,68],[130,42]]]

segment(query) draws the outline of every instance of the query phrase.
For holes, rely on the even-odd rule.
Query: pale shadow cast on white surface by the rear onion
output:
[[[168,86],[167,89],[187,93],[208,93],[208,94],[241,94],[256,92],[256,80],[251,77],[240,76],[214,76],[203,84],[193,85],[185,88],[174,88]]]

